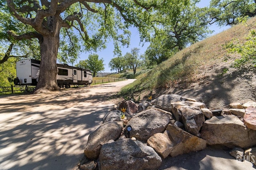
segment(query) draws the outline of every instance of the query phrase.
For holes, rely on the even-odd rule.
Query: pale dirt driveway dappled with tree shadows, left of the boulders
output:
[[[0,169],[69,170],[88,135],[134,79],[61,92],[0,97]]]

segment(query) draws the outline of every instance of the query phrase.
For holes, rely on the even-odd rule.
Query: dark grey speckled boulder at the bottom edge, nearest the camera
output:
[[[106,143],[98,158],[99,170],[157,170],[161,163],[154,149],[132,139]]]

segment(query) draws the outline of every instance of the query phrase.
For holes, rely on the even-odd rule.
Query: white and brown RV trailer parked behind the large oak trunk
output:
[[[70,88],[70,85],[90,85],[92,72],[88,69],[57,64],[57,83],[59,87]],[[36,85],[39,79],[40,61],[24,59],[16,63],[15,85]]]

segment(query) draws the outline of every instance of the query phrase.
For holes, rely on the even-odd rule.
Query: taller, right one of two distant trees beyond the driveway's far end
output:
[[[133,48],[131,49],[131,53],[126,53],[124,55],[125,62],[130,68],[133,70],[133,74],[136,74],[136,69],[138,66],[142,64],[141,57],[139,56],[140,49]]]

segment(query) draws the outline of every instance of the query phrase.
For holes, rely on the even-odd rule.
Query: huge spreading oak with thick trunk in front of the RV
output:
[[[1,27],[9,43],[38,41],[41,65],[36,93],[47,92],[60,89],[56,82],[58,53],[67,54],[64,56],[67,58],[77,56],[76,50],[80,48],[96,51],[105,48],[108,39],[114,40],[114,52],[120,53],[119,45],[129,43],[131,25],[138,27],[141,40],[148,39],[150,14],[168,8],[174,17],[178,16],[180,5],[177,4],[188,1],[1,0],[1,12],[5,11],[11,18],[7,23],[1,21]]]

